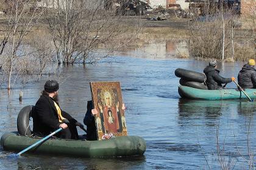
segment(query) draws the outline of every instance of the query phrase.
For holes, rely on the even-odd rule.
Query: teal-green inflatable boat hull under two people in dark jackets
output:
[[[246,94],[254,100],[256,89],[244,89]],[[224,99],[246,99],[246,95],[238,89],[202,90],[188,86],[179,86],[179,95],[182,98],[204,99],[204,100],[224,100]]]

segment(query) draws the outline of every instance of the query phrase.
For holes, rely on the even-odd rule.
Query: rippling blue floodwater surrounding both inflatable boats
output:
[[[86,102],[91,99],[89,82],[121,82],[128,134],[146,140],[143,157],[24,154],[10,159],[2,157],[7,153],[1,151],[0,169],[221,169],[221,165],[249,169],[248,148],[253,153],[256,146],[256,104],[246,100],[181,99],[177,92],[179,78],[175,77],[174,70],[180,67],[202,72],[207,65],[205,61],[176,59],[171,53],[158,53],[160,57],[154,59],[135,58],[134,54],[113,56],[94,65],[60,68],[60,106],[82,122]],[[236,77],[240,67],[241,63],[219,64],[225,77]],[[44,77],[37,83],[27,84],[21,104],[20,89],[13,89],[10,97],[5,89],[0,90],[0,136],[16,131],[18,112],[24,106],[35,104],[48,79]],[[79,130],[79,134],[83,131]]]

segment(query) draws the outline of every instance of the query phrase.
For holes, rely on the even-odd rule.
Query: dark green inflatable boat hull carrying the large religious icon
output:
[[[4,151],[20,152],[40,139],[7,132],[1,137],[1,146]],[[143,155],[145,151],[146,142],[143,138],[121,136],[97,141],[49,139],[27,152],[74,157],[127,157]]]

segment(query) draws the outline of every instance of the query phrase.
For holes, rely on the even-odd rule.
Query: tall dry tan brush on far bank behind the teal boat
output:
[[[193,58],[215,58],[222,60],[224,40],[224,61],[247,61],[255,58],[255,32],[252,18],[238,18],[227,11],[222,21],[222,13],[212,15],[210,21],[197,18],[190,27],[190,56]],[[254,26],[253,26],[254,25]],[[225,37],[223,36],[225,28]],[[233,29],[232,29],[233,28]]]

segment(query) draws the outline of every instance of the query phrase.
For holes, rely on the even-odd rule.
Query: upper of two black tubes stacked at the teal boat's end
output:
[[[194,72],[192,70],[186,70],[186,69],[176,69],[175,75],[179,78],[183,78],[185,80],[195,81],[198,83],[204,83],[206,77],[204,73]]]

